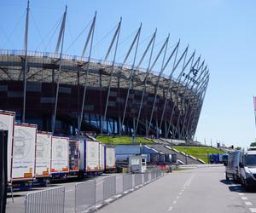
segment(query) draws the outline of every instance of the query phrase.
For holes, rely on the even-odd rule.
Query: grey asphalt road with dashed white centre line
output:
[[[97,212],[256,212],[256,192],[224,180],[223,166],[197,168],[166,175]]]

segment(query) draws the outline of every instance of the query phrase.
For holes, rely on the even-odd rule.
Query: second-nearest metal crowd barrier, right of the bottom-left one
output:
[[[77,183],[75,186],[75,211],[82,212],[96,204],[96,181]]]

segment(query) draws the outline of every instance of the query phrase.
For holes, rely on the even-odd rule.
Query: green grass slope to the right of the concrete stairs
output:
[[[207,153],[224,153],[218,149],[212,147],[183,147],[183,146],[173,146],[179,152],[187,153],[192,155],[195,158],[203,160],[205,163],[208,163]]]

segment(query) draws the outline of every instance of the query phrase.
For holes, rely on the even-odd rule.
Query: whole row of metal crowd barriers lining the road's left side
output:
[[[138,187],[143,187],[143,185],[156,180],[160,176],[163,176],[163,172],[154,170],[142,174],[117,174],[77,183],[75,185],[73,212],[96,210],[98,206],[108,204]],[[64,213],[65,187],[28,193],[25,209],[26,213]]]

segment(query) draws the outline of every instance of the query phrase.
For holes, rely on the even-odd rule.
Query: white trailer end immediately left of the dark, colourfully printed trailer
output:
[[[52,137],[51,148],[51,174],[52,176],[62,176],[68,173],[69,167],[69,138]]]

